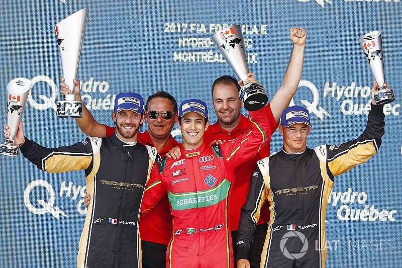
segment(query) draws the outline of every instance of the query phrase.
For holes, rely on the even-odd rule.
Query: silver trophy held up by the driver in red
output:
[[[239,95],[243,101],[244,108],[248,111],[255,111],[264,107],[268,102],[268,97],[262,85],[255,82],[245,82],[247,73],[250,70],[240,25],[234,25],[229,29],[217,32],[212,37],[212,40],[225,56],[239,79],[243,80],[244,86],[241,88]]]

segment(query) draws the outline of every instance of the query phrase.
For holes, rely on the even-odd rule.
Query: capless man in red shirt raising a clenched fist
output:
[[[279,123],[280,115],[297,90],[303,69],[304,50],[306,46],[306,31],[301,28],[290,29],[290,40],[293,42],[293,50],[279,87],[271,102],[264,107],[266,116],[270,122],[271,133],[267,133],[266,146],[260,152],[251,157],[235,170],[234,181],[229,198],[229,229],[232,231],[232,242],[235,243],[237,228],[240,221],[241,207],[246,201],[250,179],[256,167],[258,159],[269,156],[270,137]],[[266,88],[269,91],[268,88]],[[240,86],[237,80],[231,76],[221,76],[212,85],[212,98],[218,121],[211,125],[205,132],[204,140],[208,144],[213,140],[226,140],[233,142],[236,138],[244,135],[251,129],[250,121],[241,114],[242,103],[239,98]],[[269,210],[261,210],[262,214],[259,225],[256,226],[254,244],[251,251],[251,266],[258,267],[261,259],[262,247],[266,237]],[[236,246],[233,246],[236,249]],[[236,251],[234,252],[236,256]],[[236,264],[236,263],[235,263]]]

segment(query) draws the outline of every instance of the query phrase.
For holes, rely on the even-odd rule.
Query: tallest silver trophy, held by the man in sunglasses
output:
[[[74,88],[73,80],[77,76],[88,11],[88,8],[77,11],[54,27],[59,46],[64,82],[69,85],[71,91]],[[82,117],[81,102],[75,100],[74,94],[63,95],[63,100],[57,103],[57,117]]]

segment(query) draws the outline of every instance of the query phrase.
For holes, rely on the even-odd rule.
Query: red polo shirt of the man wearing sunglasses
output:
[[[115,127],[106,126],[106,135],[110,136],[115,131]],[[141,144],[154,146],[149,137],[148,130],[144,133],[138,132],[137,140]],[[169,143],[158,152],[160,156],[165,156],[166,153],[173,147],[180,146],[172,136]],[[169,200],[165,195],[159,203],[145,215],[140,217],[140,235],[141,240],[167,245],[172,237],[172,215],[170,214]]]

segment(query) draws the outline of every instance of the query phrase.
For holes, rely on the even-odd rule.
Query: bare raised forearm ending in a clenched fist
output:
[[[275,123],[279,123],[283,109],[289,106],[290,100],[296,93],[300,77],[302,77],[303,59],[305,54],[307,33],[302,28],[290,29],[290,40],[293,43],[292,54],[287,65],[282,85],[273,96],[270,105]]]

